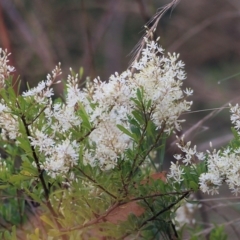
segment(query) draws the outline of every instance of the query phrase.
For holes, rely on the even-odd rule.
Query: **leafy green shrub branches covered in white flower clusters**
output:
[[[193,93],[182,89],[186,74],[179,55],[164,54],[158,40],[145,38],[141,58],[108,82],[97,78],[80,88],[71,71],[64,100],[53,100],[60,65],[19,94],[7,57],[1,49],[0,187],[14,214],[20,201],[25,217],[9,220],[13,228],[2,230],[5,239],[173,239],[176,211],[191,193],[217,193],[223,182],[239,192],[234,147],[204,154],[179,139],[182,154],[174,156],[167,176],[154,175],[155,164],[163,162],[151,156],[181,129]],[[239,139],[238,106],[231,112]],[[37,225],[27,224],[29,214]]]

